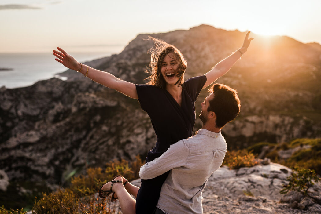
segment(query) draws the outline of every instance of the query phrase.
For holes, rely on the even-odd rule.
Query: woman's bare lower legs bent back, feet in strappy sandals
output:
[[[123,181],[123,178],[122,177],[117,177],[114,180],[115,181],[116,180]],[[112,184],[111,182],[108,182],[107,184],[103,185],[102,190],[104,190],[104,191],[110,190],[110,185],[111,184]],[[128,184],[129,183],[127,183],[126,186]],[[134,187],[136,187],[136,188],[134,188]],[[133,191],[133,193],[134,193],[135,192],[134,190],[136,190],[137,188],[138,188],[137,186],[131,185],[129,189],[131,191]],[[117,195],[114,195],[114,196],[118,197],[119,204],[120,204],[122,212],[124,214],[135,214],[135,203],[136,203],[136,200],[132,196],[130,196],[130,194],[126,191],[123,183],[114,183],[113,186],[112,186],[112,191],[114,191],[115,194],[117,194]],[[137,190],[137,192],[138,192],[138,190]]]

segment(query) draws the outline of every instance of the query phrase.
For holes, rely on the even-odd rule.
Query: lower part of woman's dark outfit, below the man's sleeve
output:
[[[169,171],[152,179],[142,179],[142,185],[137,193],[136,214],[152,214],[160,197],[160,189]]]

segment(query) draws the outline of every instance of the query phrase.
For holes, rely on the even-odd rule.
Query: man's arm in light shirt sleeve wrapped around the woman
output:
[[[188,155],[189,149],[187,145],[184,140],[180,140],[172,144],[160,157],[145,163],[139,170],[139,177],[152,179],[171,169],[181,167],[185,164]]]

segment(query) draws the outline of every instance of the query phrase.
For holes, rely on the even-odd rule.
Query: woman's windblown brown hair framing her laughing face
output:
[[[170,45],[163,40],[151,36],[148,36],[147,40],[152,40],[154,42],[154,46],[147,52],[151,53],[149,68],[145,70],[146,73],[150,74],[150,76],[146,78],[149,79],[147,84],[162,89],[166,88],[166,81],[161,74],[161,64],[167,54],[173,53],[173,57],[178,63],[176,76],[179,77],[175,85],[178,84],[178,86],[180,86],[184,82],[184,73],[187,67],[187,62],[185,61],[183,54],[174,45]]]

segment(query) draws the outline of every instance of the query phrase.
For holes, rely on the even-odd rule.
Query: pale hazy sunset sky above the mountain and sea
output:
[[[321,44],[320,0],[0,0],[0,52],[120,52],[201,24]]]

